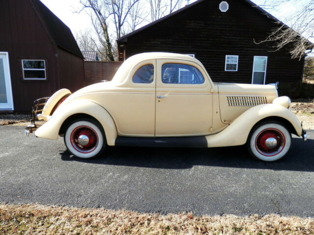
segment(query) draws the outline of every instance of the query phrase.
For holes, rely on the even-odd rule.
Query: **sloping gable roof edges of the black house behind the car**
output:
[[[166,16],[164,16],[164,17],[158,19],[157,21],[154,21],[154,22],[152,22],[152,23],[150,23],[150,24],[146,24],[145,26],[143,26],[143,27],[141,27],[141,28],[138,28],[138,29],[134,30],[133,32],[131,32],[131,33],[129,33],[129,34],[124,35],[123,37],[120,37],[120,38],[117,40],[117,42],[125,42],[128,37],[131,37],[132,35],[134,35],[134,34],[140,32],[140,31],[143,31],[143,30],[146,29],[146,28],[149,28],[149,27],[151,27],[151,26],[153,26],[153,25],[155,25],[155,24],[158,24],[159,22],[162,22],[162,21],[164,21],[164,20],[166,20],[166,19],[168,19],[168,18],[170,18],[170,17],[173,17],[173,16],[175,16],[175,15],[177,15],[177,14],[183,12],[184,10],[186,10],[186,9],[188,9],[188,8],[191,8],[191,7],[193,7],[193,6],[195,6],[195,5],[199,4],[199,3],[201,3],[201,2],[203,2],[203,1],[206,1],[206,0],[198,0],[198,1],[195,1],[195,2],[193,2],[193,3],[191,3],[191,4],[189,4],[189,5],[184,6],[184,7],[181,8],[181,9],[179,9],[179,10],[177,10],[177,11],[175,11],[175,12],[169,14],[169,15],[166,15]],[[260,12],[262,13],[262,15],[264,15],[266,18],[271,19],[271,20],[274,20],[274,21],[276,21],[276,22],[279,22],[279,23],[285,25],[285,24],[282,23],[280,20],[278,20],[276,17],[274,17],[274,16],[272,16],[271,14],[269,14],[267,11],[265,11],[264,9],[262,9],[261,7],[259,7],[259,6],[258,6],[257,4],[255,4],[254,2],[252,2],[252,1],[250,1],[250,0],[243,0],[243,1],[245,1],[245,2],[248,3],[248,4],[250,4],[252,7],[254,7],[254,9],[260,11]],[[287,26],[287,25],[286,25],[286,26]],[[287,27],[288,27],[288,26],[287,26]]]

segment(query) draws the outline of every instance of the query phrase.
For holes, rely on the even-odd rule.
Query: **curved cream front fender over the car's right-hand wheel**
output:
[[[280,117],[288,120],[294,127],[296,134],[301,136],[300,121],[290,110],[281,105],[262,104],[248,109],[223,131],[206,136],[208,147],[242,145],[246,143],[254,125],[260,120],[270,117]]]

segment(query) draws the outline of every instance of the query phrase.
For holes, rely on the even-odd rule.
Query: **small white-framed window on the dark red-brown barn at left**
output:
[[[22,60],[25,80],[46,80],[45,60]]]

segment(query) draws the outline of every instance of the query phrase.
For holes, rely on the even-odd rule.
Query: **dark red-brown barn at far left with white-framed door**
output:
[[[84,86],[71,30],[40,0],[1,0],[0,16],[0,111],[29,113],[34,99]]]

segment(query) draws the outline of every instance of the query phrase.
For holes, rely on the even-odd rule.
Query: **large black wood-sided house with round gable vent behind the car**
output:
[[[119,60],[150,51],[189,54],[215,82],[300,82],[304,58],[261,43],[277,19],[250,0],[198,0],[117,40]]]

